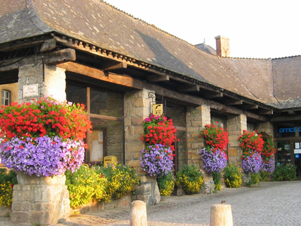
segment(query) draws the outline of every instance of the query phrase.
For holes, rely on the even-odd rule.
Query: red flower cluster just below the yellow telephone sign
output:
[[[175,132],[177,131],[172,123],[172,119],[167,119],[165,116],[150,115],[144,119],[144,134],[140,139],[148,144],[162,144],[169,146],[173,151],[175,146]]]

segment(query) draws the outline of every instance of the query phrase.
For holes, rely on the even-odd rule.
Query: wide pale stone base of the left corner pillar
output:
[[[70,215],[65,175],[37,177],[17,172],[13,189],[11,222],[48,225],[63,222]]]

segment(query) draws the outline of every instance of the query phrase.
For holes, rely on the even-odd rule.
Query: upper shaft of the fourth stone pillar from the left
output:
[[[242,149],[239,146],[238,137],[247,130],[246,115],[228,116],[227,127],[229,135],[229,163],[241,164]]]

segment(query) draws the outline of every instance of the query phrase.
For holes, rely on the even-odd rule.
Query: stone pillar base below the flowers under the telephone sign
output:
[[[160,192],[156,177],[142,176],[141,183],[132,195],[132,200],[141,200],[147,206],[155,205],[160,202]]]

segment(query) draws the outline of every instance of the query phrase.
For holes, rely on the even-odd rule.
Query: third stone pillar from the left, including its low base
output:
[[[202,105],[199,107],[188,107],[186,112],[187,126],[187,159],[188,165],[194,164],[203,169],[203,162],[199,151],[204,147],[204,139],[200,137],[200,131],[206,124],[210,124],[210,107]],[[214,181],[212,174],[204,171],[204,185],[202,193],[212,193],[214,191]]]

